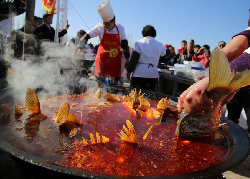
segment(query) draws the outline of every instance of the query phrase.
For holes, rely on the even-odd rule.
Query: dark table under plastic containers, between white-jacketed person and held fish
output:
[[[167,70],[159,69],[159,86],[158,92],[178,97],[189,86],[196,81],[193,78],[183,77],[171,74]]]

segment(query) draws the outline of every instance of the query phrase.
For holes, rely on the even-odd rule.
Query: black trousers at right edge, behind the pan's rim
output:
[[[250,132],[250,89],[238,91],[227,104],[228,118],[238,124],[242,109],[245,110],[248,132]]]

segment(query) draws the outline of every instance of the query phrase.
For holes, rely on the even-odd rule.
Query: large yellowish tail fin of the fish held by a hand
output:
[[[209,86],[207,91],[215,88],[238,90],[250,85],[250,70],[239,73],[231,72],[227,57],[218,48],[212,52],[209,70]]]

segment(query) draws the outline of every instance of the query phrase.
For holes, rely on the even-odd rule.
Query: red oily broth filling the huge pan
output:
[[[77,128],[75,137],[61,131],[55,122],[60,105],[67,100],[70,111],[81,119],[83,125]],[[41,112],[47,119],[39,122],[28,119],[29,112],[22,107],[24,114],[15,118],[11,115],[1,122],[1,136],[15,147],[46,161],[61,166],[93,173],[118,176],[166,176],[203,170],[223,161],[228,152],[226,137],[217,140],[186,140],[176,138],[177,118],[168,118],[165,123],[156,125],[156,119],[134,117],[130,109],[120,103],[93,99],[90,96],[57,96],[41,101]],[[149,100],[151,108],[157,101]],[[171,108],[175,108],[171,106]],[[137,134],[138,143],[153,128],[142,147],[121,141],[119,133],[126,120],[130,120]],[[84,146],[82,137],[90,142],[89,134],[98,132],[110,139],[107,144]]]

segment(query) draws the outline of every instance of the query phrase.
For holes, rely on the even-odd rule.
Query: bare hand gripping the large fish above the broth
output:
[[[185,109],[189,114],[201,116],[204,111],[212,110],[213,101],[206,94],[208,83],[207,77],[184,91],[178,99],[178,112],[181,113]]]

